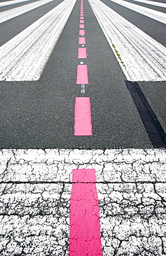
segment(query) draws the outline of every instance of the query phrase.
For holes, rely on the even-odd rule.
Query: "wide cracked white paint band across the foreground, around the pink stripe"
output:
[[[165,149],[1,149],[1,255],[68,255],[79,168],[96,170],[103,256],[165,255]]]

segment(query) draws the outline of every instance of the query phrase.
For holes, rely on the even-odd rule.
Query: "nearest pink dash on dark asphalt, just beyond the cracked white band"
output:
[[[76,97],[74,107],[74,135],[92,135],[91,108],[89,97]]]

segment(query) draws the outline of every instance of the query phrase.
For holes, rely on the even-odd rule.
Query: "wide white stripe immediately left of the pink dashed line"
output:
[[[76,0],[65,0],[0,48],[0,80],[39,80]]]

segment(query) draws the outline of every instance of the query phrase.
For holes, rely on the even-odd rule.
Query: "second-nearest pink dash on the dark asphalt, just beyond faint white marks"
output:
[[[87,65],[77,65],[76,84],[89,84]]]

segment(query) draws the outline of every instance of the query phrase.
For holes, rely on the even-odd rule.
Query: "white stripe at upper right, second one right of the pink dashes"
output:
[[[166,13],[164,12],[158,12],[158,10],[152,10],[144,6],[138,6],[137,4],[129,3],[127,1],[122,1],[122,0],[111,0],[111,1],[114,3],[118,3],[121,6],[125,6],[130,10],[134,10],[135,12],[139,12],[141,13],[141,15],[145,15],[149,18],[155,19],[156,21],[160,21],[163,24],[166,24]]]

